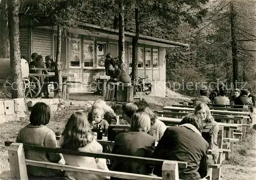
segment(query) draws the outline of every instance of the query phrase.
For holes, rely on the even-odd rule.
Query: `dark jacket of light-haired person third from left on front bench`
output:
[[[123,132],[117,135],[112,153],[152,158],[156,139],[145,132]],[[135,162],[115,161],[113,171],[148,174],[150,168]],[[116,178],[111,178],[116,179]]]

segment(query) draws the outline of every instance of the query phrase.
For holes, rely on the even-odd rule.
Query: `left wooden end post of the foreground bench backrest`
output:
[[[28,179],[22,143],[12,143],[8,149],[11,179]]]

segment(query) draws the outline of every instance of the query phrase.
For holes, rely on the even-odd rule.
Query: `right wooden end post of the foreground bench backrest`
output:
[[[162,166],[163,180],[179,180],[178,162],[164,161]]]

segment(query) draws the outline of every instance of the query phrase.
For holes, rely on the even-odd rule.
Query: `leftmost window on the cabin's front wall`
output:
[[[81,40],[80,39],[70,40],[70,66],[74,68],[81,66]]]

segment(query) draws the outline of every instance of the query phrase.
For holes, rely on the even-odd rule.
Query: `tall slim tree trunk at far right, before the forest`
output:
[[[232,68],[233,68],[233,86],[237,88],[238,82],[238,59],[237,59],[237,39],[235,27],[236,12],[234,12],[233,2],[230,2],[230,25],[231,25],[231,46],[232,46]]]

